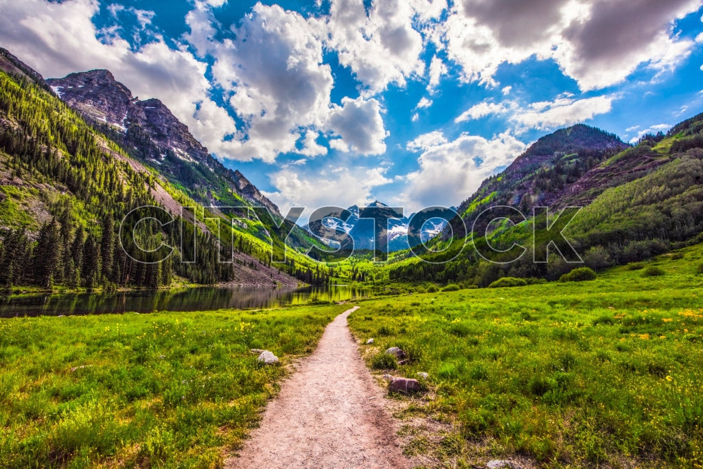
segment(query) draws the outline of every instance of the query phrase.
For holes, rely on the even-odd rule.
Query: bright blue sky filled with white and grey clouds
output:
[[[703,111],[703,0],[0,0],[45,77],[107,68],[284,210],[458,205],[539,136]]]

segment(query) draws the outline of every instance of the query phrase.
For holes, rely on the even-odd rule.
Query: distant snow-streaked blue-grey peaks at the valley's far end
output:
[[[313,221],[307,229],[319,233],[321,226],[324,226],[332,231],[348,233],[351,239],[342,243],[343,251],[354,249],[395,252],[414,247],[408,245],[408,226],[413,215],[401,215],[393,207],[376,200],[363,208],[352,205],[347,208],[346,213],[330,212],[326,215],[328,218]],[[445,226],[446,223],[439,219],[427,221],[422,227],[421,239],[426,241],[437,236]]]

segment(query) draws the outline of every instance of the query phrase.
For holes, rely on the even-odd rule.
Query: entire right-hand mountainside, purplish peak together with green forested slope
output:
[[[521,208],[528,221],[491,225],[487,236],[480,224],[470,238],[439,240],[446,249],[423,260],[397,257],[389,278],[479,286],[505,276],[557,279],[583,265],[562,257],[572,250],[598,270],[702,243],[703,114],[667,134],[645,135],[636,146],[586,126],[557,131],[484,181],[463,203],[463,215],[475,220],[494,204]],[[558,219],[543,212],[533,217],[529,209],[536,205],[565,212]],[[516,244],[527,249],[524,255],[511,249]]]

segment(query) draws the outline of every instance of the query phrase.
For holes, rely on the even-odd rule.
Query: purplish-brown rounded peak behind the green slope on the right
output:
[[[536,206],[553,207],[569,193],[584,193],[586,187],[572,189],[574,184],[626,148],[629,146],[616,135],[584,124],[559,129],[538,139],[501,174],[486,179],[460,204],[459,213],[471,229],[487,207],[507,205],[524,214]],[[581,201],[586,203],[588,198]]]

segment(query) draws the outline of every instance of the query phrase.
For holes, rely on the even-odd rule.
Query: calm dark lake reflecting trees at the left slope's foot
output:
[[[4,297],[0,298],[0,317],[259,309],[307,304],[313,295],[321,301],[338,302],[370,295],[370,290],[345,285],[292,290],[212,287]]]

